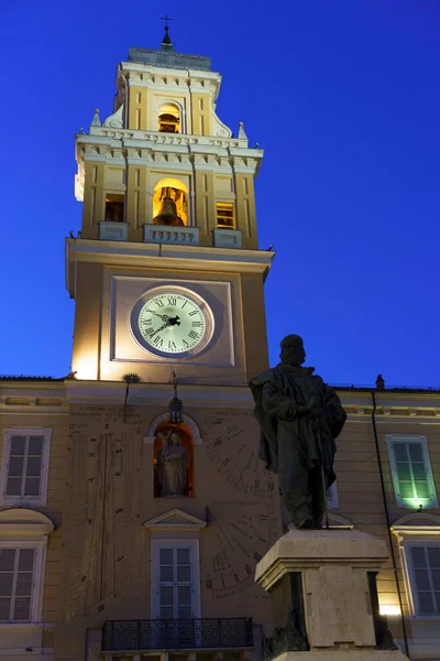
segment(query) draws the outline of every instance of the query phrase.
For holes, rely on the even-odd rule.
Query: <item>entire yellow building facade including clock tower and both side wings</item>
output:
[[[220,82],[166,32],[76,137],[73,372],[0,381],[0,657],[258,659],[271,635],[254,568],[283,512],[248,382],[274,253],[263,153],[217,117]],[[381,609],[413,659],[440,659],[440,393],[339,393],[329,524],[387,540]]]

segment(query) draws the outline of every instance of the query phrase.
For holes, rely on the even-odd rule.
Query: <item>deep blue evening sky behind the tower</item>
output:
[[[440,386],[438,0],[2,0],[0,372],[69,371],[74,133],[111,113],[117,63],[160,45],[165,12],[265,150],[272,362],[299,333],[332,383]]]

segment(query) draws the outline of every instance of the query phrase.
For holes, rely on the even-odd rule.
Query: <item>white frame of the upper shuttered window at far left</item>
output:
[[[52,430],[40,426],[16,426],[4,430],[3,456],[0,474],[0,506],[44,507],[47,502],[48,458],[51,452]],[[12,436],[43,436],[42,469],[38,496],[7,496],[8,468],[11,454]]]

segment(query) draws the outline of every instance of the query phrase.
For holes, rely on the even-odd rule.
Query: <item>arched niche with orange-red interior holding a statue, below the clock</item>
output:
[[[154,497],[194,498],[194,445],[185,423],[164,421],[155,430]]]

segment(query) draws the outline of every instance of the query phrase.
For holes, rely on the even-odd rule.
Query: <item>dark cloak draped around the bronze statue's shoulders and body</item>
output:
[[[268,470],[278,473],[278,444],[297,441],[306,451],[308,468],[322,466],[330,486],[336,479],[336,438],[346,414],[334,390],[312,372],[314,368],[279,364],[250,382],[262,431],[260,457]],[[311,402],[322,410],[323,424],[300,413],[299,408]]]

